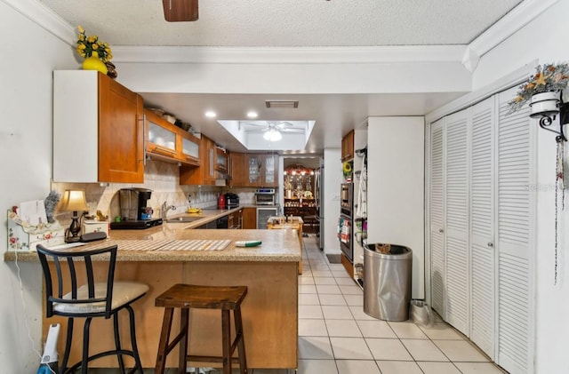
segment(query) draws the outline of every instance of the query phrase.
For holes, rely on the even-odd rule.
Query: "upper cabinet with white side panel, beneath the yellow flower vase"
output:
[[[144,182],[140,95],[98,71],[54,71],[53,181]]]

